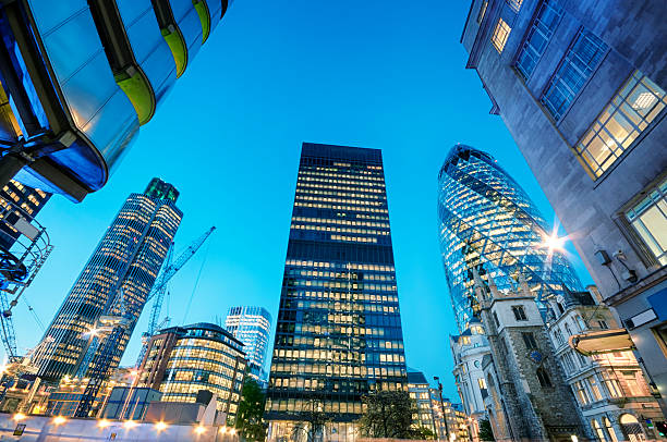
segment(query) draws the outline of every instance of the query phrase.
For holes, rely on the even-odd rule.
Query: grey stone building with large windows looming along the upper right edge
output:
[[[461,42],[667,413],[665,14],[662,0],[474,0]]]

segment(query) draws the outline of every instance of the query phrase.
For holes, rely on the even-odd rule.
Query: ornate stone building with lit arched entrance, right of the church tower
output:
[[[658,440],[664,417],[632,352],[583,356],[568,345],[577,334],[618,329],[616,315],[589,292],[566,292],[549,304],[548,335],[590,432],[603,442]]]

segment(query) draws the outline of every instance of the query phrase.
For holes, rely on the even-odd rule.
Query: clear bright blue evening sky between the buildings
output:
[[[383,149],[408,365],[456,397],[456,332],[440,262],[437,174],[449,148],[489,151],[553,211],[459,44],[466,1],[238,0],[177,82],[109,184],[39,214],[56,248],[26,292],[45,324],[124,198],[153,176],[181,192],[177,248],[210,242],[173,279],[172,323],[214,321],[233,304],[277,316],[302,142]],[[575,267],[591,281],[581,261]],[[193,294],[197,273],[199,284]],[[145,309],[125,353],[133,364]],[[21,303],[20,351],[41,330]],[[275,327],[275,324],[274,324]]]

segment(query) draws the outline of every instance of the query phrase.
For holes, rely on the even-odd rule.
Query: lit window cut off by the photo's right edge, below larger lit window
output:
[[[628,210],[626,218],[658,262],[667,265],[667,177]]]

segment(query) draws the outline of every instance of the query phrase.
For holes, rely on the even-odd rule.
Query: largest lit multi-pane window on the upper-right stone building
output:
[[[665,109],[665,90],[639,71],[577,144],[577,154],[593,179],[601,176]]]

